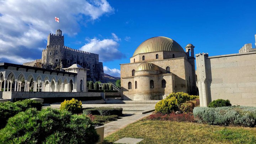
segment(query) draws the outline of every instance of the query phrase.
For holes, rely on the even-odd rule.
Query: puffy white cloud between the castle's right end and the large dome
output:
[[[100,62],[112,61],[125,58],[125,55],[118,50],[119,43],[113,39],[87,39],[88,43],[80,48],[86,52],[99,54]]]

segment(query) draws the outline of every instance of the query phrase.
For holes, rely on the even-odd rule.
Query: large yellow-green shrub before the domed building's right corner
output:
[[[181,103],[186,101],[194,100],[199,98],[199,96],[188,95],[184,92],[171,93],[164,100],[159,101],[155,105],[156,112],[162,114],[168,114],[173,111],[179,111]]]

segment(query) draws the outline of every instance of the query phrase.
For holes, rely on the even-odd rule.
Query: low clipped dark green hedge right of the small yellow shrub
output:
[[[83,114],[89,115],[100,115],[100,116],[111,116],[117,115],[122,116],[123,108],[112,108],[112,107],[95,107],[87,108],[83,110]]]

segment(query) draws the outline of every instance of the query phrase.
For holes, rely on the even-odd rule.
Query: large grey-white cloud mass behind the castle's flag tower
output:
[[[0,61],[20,64],[40,58],[38,48],[46,47],[49,33],[60,28],[75,35],[79,23],[85,25],[113,12],[106,0],[0,0]],[[54,21],[55,16],[60,23]]]

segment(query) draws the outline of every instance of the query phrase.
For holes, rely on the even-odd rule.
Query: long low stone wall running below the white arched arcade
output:
[[[100,92],[2,92],[2,98],[14,101],[26,98],[70,98],[70,97],[102,97]]]

